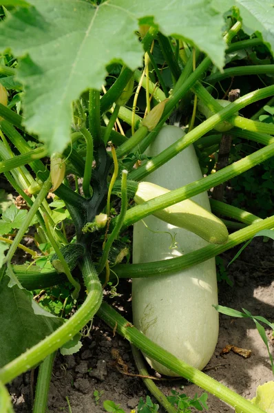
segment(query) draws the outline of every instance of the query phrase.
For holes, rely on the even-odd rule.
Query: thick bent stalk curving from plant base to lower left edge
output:
[[[89,253],[84,255],[81,271],[88,294],[81,307],[65,323],[38,344],[25,351],[0,369],[0,381],[9,383],[19,374],[36,366],[45,357],[58,350],[87,324],[101,306],[103,292]]]

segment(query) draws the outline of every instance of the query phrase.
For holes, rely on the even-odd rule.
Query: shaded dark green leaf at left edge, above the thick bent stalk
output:
[[[63,324],[43,310],[12,273],[0,282],[0,367],[12,361]]]

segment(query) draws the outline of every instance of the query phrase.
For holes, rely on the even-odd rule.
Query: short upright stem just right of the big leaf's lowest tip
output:
[[[94,146],[101,140],[100,92],[89,89],[89,132],[94,138]]]

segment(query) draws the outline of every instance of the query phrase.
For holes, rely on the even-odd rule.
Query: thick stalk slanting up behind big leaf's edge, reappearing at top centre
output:
[[[156,37],[157,32],[158,30],[151,26],[147,34],[143,37],[141,43],[143,44],[145,52],[151,46],[151,43]],[[132,72],[128,67],[125,67],[125,69],[120,72],[118,78],[116,79],[112,87],[110,87],[107,93],[101,98],[101,114],[107,112],[107,110],[110,107],[112,107],[113,103],[116,102],[118,97],[122,94],[123,90],[125,89],[127,83],[129,83],[131,76]]]

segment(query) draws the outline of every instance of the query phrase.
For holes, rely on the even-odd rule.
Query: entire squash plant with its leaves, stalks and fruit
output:
[[[209,211],[204,193],[274,154],[274,125],[245,118],[241,112],[255,103],[262,108],[273,96],[274,66],[237,61],[224,69],[224,58],[229,64],[232,52],[264,47],[272,53],[272,4],[253,0],[249,8],[240,0],[176,0],[170,5],[160,0],[157,8],[152,0],[0,4],[0,173],[19,194],[19,210],[10,207],[0,221],[3,411],[10,411],[10,405],[2,385],[41,363],[33,412],[45,412],[44,390],[56,350],[78,350],[79,332],[97,314],[152,359],[156,368],[189,379],[238,411],[263,412],[198,368],[211,357],[218,334],[217,313],[211,307],[217,304],[213,257],[274,226],[273,216],[260,220],[224,202],[212,202],[213,212],[246,224],[228,235],[224,223]],[[216,83],[221,88],[226,78],[253,74],[268,75],[264,85],[224,107],[214,97]],[[198,100],[199,107],[207,110],[197,112]],[[184,130],[164,127],[178,113]],[[170,134],[167,128],[172,129]],[[196,145],[198,158],[203,148],[211,155],[222,138],[220,131],[262,147],[202,178],[191,145]],[[159,180],[160,171],[165,184]],[[69,176],[74,176],[74,184]],[[47,200],[52,192],[59,211],[52,210]],[[196,195],[200,205],[190,200]],[[136,200],[135,206],[131,200]],[[59,225],[65,218],[74,224],[72,240],[67,239],[64,224]],[[134,264],[123,264],[129,248],[119,238],[132,224]],[[32,225],[43,268],[41,254],[21,243]],[[180,228],[174,231],[174,225]],[[171,259],[162,260],[174,232],[180,248],[170,249]],[[144,245],[141,236],[146,237]],[[149,245],[153,255],[147,260],[144,248]],[[12,264],[17,248],[33,259]],[[199,288],[187,281],[189,275],[212,294],[199,295]],[[134,322],[143,332],[102,302],[103,288],[115,276],[134,279]],[[166,293],[163,280],[172,286]],[[34,290],[65,281],[75,307],[69,319],[55,317],[32,299]],[[181,283],[196,306],[184,307],[183,297],[175,295]],[[157,303],[160,290],[167,300],[162,308]],[[153,301],[156,318],[149,321],[145,309]],[[140,322],[144,315],[146,328]],[[185,356],[165,341],[169,320],[180,334],[179,345],[180,340],[191,341],[192,354]],[[195,343],[200,338],[189,338],[193,322],[203,328],[205,337],[211,335],[205,354]],[[151,337],[149,326],[154,324],[158,330]]]

